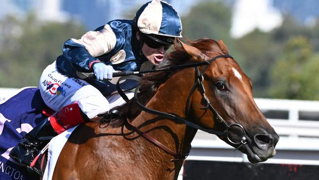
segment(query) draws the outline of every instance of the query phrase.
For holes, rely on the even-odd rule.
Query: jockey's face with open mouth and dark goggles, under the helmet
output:
[[[136,34],[136,37],[138,40],[140,39],[139,33]],[[158,47],[156,47],[157,46],[156,44],[151,44],[151,43],[152,42],[144,41],[144,44],[142,46],[142,53],[149,61],[152,62],[152,64],[159,65],[160,61],[164,59],[164,56],[170,46],[159,44]]]

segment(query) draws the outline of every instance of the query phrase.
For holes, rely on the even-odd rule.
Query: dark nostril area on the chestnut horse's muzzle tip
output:
[[[274,148],[279,141],[277,133],[256,134],[254,141],[260,150]]]

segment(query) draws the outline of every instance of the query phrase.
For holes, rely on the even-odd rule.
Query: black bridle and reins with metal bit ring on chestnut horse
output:
[[[195,67],[196,81],[195,81],[195,84],[193,85],[193,87],[191,88],[191,90],[190,90],[190,92],[188,94],[187,101],[186,101],[187,103],[186,104],[188,104],[188,101],[189,101],[191,95],[193,94],[193,92],[196,89],[198,89],[200,91],[201,95],[202,95],[202,98],[204,99],[204,101],[206,103],[206,105],[204,107],[199,107],[199,108],[203,109],[203,110],[208,110],[209,109],[213,113],[214,119],[217,120],[217,122],[221,123],[225,127],[224,131],[215,131],[215,130],[212,130],[212,129],[207,129],[207,128],[199,126],[199,125],[197,125],[197,124],[195,124],[195,123],[193,123],[193,122],[191,122],[189,120],[186,120],[184,118],[178,117],[176,115],[160,112],[160,111],[145,107],[137,99],[137,93],[138,93],[138,90],[139,90],[140,86],[137,86],[136,89],[135,89],[134,102],[136,102],[136,104],[139,106],[139,108],[141,110],[143,110],[143,111],[145,111],[147,113],[154,114],[154,115],[157,115],[157,116],[160,116],[160,117],[163,117],[163,118],[167,118],[167,119],[170,119],[170,120],[174,120],[174,121],[177,121],[179,123],[186,124],[187,126],[190,126],[192,128],[195,128],[195,129],[202,130],[202,131],[210,133],[210,134],[215,134],[217,136],[226,136],[227,140],[230,143],[232,143],[234,145],[238,145],[237,148],[235,149],[235,150],[238,150],[240,147],[242,147],[243,145],[245,145],[247,143],[246,132],[245,132],[243,126],[240,125],[239,123],[229,124],[225,120],[223,120],[223,118],[219,115],[219,113],[213,108],[209,98],[206,95],[205,86],[203,84],[203,81],[204,81],[204,76],[203,75],[204,75],[205,71],[208,69],[209,65],[214,60],[217,60],[218,58],[232,58],[233,59],[233,57],[230,56],[230,55],[219,55],[219,56],[214,57],[210,61],[205,61],[205,63],[199,62],[199,63],[193,63],[192,64],[192,67]],[[202,72],[200,72],[200,70],[199,70],[199,66],[201,66],[201,65],[206,65]],[[164,145],[162,145],[159,141],[157,141],[154,138],[150,137],[148,134],[146,134],[146,133],[142,132],[141,130],[139,130],[137,127],[133,126],[133,124],[130,122],[129,119],[127,119],[127,122],[128,122],[128,125],[130,125],[131,128],[134,131],[136,131],[138,134],[140,134],[144,138],[148,139],[149,141],[151,141],[152,143],[154,143],[155,145],[160,147],[162,150],[166,151],[167,153],[173,155],[176,158],[176,159],[171,159],[171,161],[173,161],[173,160],[184,160],[188,156],[189,150],[188,150],[188,152],[186,154],[181,154],[181,153],[174,152],[173,150],[170,150],[167,147],[165,147]],[[239,142],[235,142],[234,140],[231,140],[231,138],[229,137],[229,134],[228,134],[229,130],[232,127],[234,127],[234,126],[238,126],[243,132],[243,136],[241,136]]]

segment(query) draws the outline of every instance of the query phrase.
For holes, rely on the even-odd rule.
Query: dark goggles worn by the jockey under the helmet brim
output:
[[[143,34],[144,42],[152,49],[158,49],[164,46],[164,50],[168,50],[174,42],[173,37],[160,36],[155,34]]]

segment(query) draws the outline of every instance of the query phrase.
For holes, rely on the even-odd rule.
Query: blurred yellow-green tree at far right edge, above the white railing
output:
[[[307,37],[293,36],[285,45],[283,56],[273,65],[271,97],[319,100],[318,58]]]

